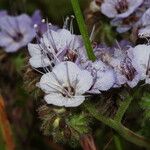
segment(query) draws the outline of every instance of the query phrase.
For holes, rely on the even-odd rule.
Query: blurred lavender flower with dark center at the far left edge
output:
[[[0,46],[6,52],[16,52],[35,36],[32,20],[26,15],[4,16],[0,19]]]

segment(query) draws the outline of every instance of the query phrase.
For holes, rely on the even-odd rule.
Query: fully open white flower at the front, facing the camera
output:
[[[46,93],[44,99],[48,104],[76,107],[83,103],[83,94],[92,84],[93,77],[88,71],[80,70],[75,63],[66,61],[43,75],[38,86]]]

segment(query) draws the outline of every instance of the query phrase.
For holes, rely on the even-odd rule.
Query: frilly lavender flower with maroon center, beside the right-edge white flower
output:
[[[99,51],[97,55],[98,59],[113,69],[115,74],[114,87],[120,87],[123,84],[134,87],[139,82],[139,75],[132,65],[132,60],[127,55],[127,51],[130,48],[130,45],[127,44],[127,41],[121,41],[112,48],[107,48],[109,51]]]

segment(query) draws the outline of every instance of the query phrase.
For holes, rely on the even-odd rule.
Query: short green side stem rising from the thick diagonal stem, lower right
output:
[[[122,118],[123,118],[125,112],[127,111],[127,109],[128,109],[128,107],[129,107],[129,105],[130,105],[132,99],[133,99],[132,97],[129,97],[129,96],[128,96],[128,97],[121,103],[121,105],[120,105],[120,107],[119,107],[119,109],[118,109],[118,111],[117,111],[117,113],[116,113],[116,116],[115,116],[115,118],[114,118],[114,120],[115,120],[116,122],[121,123],[121,120],[122,120]]]

